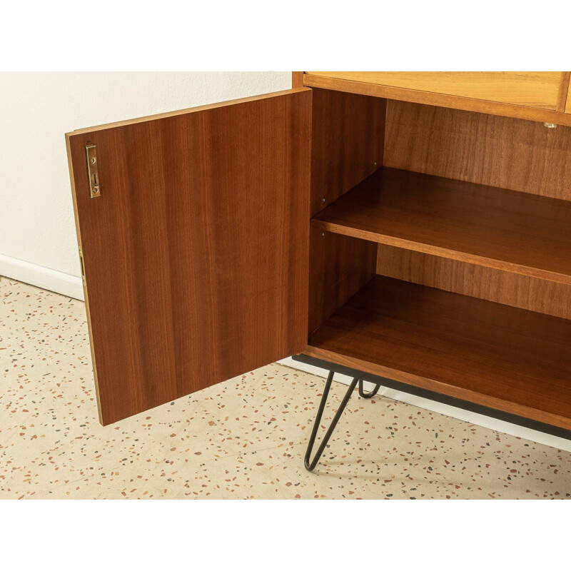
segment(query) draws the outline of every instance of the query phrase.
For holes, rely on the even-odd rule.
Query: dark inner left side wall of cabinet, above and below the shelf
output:
[[[386,101],[313,89],[311,216],[383,165]],[[377,245],[310,233],[309,333],[375,275]]]

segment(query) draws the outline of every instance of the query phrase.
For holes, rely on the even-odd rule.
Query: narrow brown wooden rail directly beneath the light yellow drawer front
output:
[[[431,91],[418,91],[415,89],[370,84],[363,81],[348,81],[346,79],[335,79],[312,74],[304,74],[303,85],[319,89],[343,91],[350,94],[382,97],[398,101],[410,101],[412,103],[423,103],[425,105],[463,109],[465,111],[476,111],[477,113],[490,113],[492,115],[515,117],[527,119],[529,121],[540,121],[542,123],[547,122],[557,123],[559,125],[571,125],[571,116],[568,113],[561,113],[555,109],[544,109],[525,105],[515,105],[513,103],[487,101],[485,99],[437,94]]]

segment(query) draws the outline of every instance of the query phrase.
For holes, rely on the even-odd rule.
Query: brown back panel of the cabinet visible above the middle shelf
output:
[[[388,101],[385,166],[571,200],[571,128]]]

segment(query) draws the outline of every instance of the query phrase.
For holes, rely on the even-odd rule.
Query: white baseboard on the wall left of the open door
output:
[[[84,299],[84,286],[81,278],[4,256],[4,254],[0,254],[0,276],[31,283],[38,288],[55,291],[69,298]]]

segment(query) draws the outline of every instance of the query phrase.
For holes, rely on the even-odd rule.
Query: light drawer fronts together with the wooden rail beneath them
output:
[[[307,71],[303,85],[571,125],[569,71]]]

